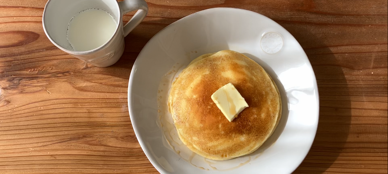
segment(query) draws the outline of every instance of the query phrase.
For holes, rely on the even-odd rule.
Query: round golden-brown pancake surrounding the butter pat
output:
[[[249,105],[231,122],[211,99],[228,83]],[[272,78],[255,61],[231,50],[194,59],[173,82],[168,107],[180,140],[213,160],[254,152],[281,118],[280,94]]]

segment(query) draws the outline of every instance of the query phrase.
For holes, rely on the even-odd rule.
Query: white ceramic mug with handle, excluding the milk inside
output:
[[[113,36],[103,45],[90,51],[74,51],[68,43],[66,29],[71,18],[89,8],[105,9],[118,22]],[[123,26],[123,15],[138,10]],[[144,0],[49,0],[43,11],[43,29],[50,41],[66,53],[97,67],[116,63],[124,52],[124,37],[128,35],[148,13]]]

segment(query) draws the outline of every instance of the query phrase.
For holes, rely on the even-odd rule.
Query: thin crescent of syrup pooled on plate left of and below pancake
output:
[[[176,154],[182,157],[182,159],[184,159],[185,161],[189,162],[191,165],[206,171],[229,171],[249,164],[249,162],[251,162],[251,156],[249,155],[223,161],[206,159],[192,152],[179,139],[177,130],[174,126],[172,115],[170,112],[168,112],[167,103],[168,95],[170,94],[171,84],[185,67],[186,65],[176,63],[175,66],[173,66],[171,70],[168,71],[166,75],[161,78],[158,87],[157,103],[160,120],[160,123],[158,123],[158,125],[160,125],[160,128],[163,130],[163,135],[166,138],[166,142],[163,141],[163,145],[167,148],[171,148],[171,150],[173,150]],[[260,156],[260,154],[253,156],[253,160],[257,159],[258,156]]]

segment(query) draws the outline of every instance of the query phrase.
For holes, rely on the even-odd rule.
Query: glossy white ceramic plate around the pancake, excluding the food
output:
[[[282,118],[274,134],[256,152],[225,161],[205,161],[194,155],[195,162],[166,141],[158,116],[158,102],[162,101],[157,102],[159,83],[177,63],[184,67],[199,55],[224,49],[245,54],[274,78],[281,91]],[[174,22],[144,46],[129,79],[128,106],[137,139],[162,174],[290,174],[314,140],[319,97],[310,62],[286,29],[255,12],[215,8]],[[203,166],[205,163],[209,166]]]

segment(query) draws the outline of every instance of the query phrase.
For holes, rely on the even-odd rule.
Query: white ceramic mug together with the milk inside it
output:
[[[138,10],[123,25],[123,15]],[[97,67],[116,63],[124,52],[124,37],[148,13],[144,0],[49,0],[43,29],[66,53]]]

